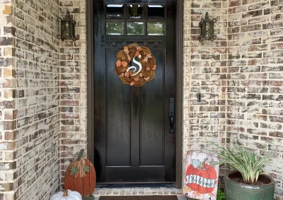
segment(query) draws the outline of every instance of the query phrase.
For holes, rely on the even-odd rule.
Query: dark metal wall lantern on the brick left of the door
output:
[[[72,39],[76,41],[76,36],[75,36],[75,25],[76,21],[72,20],[70,18],[70,13],[67,10],[66,17],[64,19],[58,18],[57,19],[58,23],[60,23],[60,29],[61,29],[61,35],[57,35],[58,39]]]

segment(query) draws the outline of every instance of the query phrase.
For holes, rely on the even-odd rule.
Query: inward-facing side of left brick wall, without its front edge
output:
[[[13,4],[15,199],[59,188],[59,39],[56,0]]]

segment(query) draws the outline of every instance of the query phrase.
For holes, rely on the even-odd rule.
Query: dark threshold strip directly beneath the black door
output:
[[[125,183],[125,184],[115,184],[115,183],[105,183],[105,184],[96,184],[96,188],[144,188],[144,187],[150,187],[150,188],[160,188],[160,187],[166,187],[166,188],[175,188],[175,183]]]

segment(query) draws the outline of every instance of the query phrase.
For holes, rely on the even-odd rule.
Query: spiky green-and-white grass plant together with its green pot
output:
[[[212,142],[211,142],[212,143]],[[243,146],[241,142],[231,142],[231,147],[214,144],[221,152],[215,152],[222,161],[236,171],[224,176],[226,200],[272,200],[274,199],[275,181],[269,175],[261,173],[262,165],[271,154],[262,156],[257,151]]]

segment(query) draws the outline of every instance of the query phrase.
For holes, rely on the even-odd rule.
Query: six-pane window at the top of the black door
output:
[[[106,35],[165,36],[165,11],[164,5],[108,4]]]

